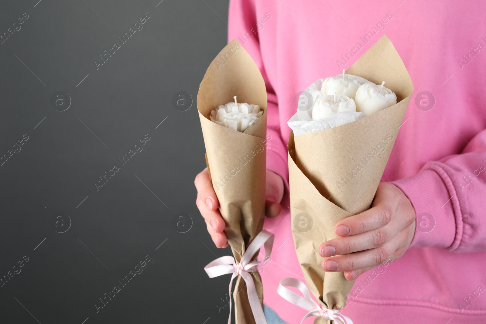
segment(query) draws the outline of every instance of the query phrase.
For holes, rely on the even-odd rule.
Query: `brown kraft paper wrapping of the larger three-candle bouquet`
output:
[[[370,207],[414,89],[386,36],[346,73],[376,84],[386,81],[397,95],[397,103],[339,127],[295,137],[291,133],[288,143],[295,251],[307,286],[318,302],[330,309],[346,306],[354,281],[348,281],[343,272],[326,273],[321,268],[319,246],[336,238],[337,222]],[[313,225],[308,230],[305,226],[310,227],[310,222]],[[324,323],[322,317],[314,320],[314,324]]]

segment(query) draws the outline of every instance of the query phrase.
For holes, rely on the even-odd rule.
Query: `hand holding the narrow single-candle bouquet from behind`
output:
[[[196,205],[204,217],[209,235],[218,248],[226,248],[228,241],[224,233],[226,223],[221,216],[218,198],[209,180],[208,168],[201,171],[194,179],[197,189]],[[267,170],[266,173],[266,217],[277,217],[280,214],[280,201],[283,197],[283,180],[277,173]]]

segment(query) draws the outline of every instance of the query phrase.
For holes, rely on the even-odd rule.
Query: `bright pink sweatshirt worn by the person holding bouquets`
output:
[[[414,83],[383,180],[408,196],[417,230],[403,257],[354,283],[343,314],[355,324],[486,323],[485,13],[479,0],[230,1],[228,40],[243,45],[265,80],[267,168],[286,186],[287,120],[299,91],[341,73],[383,34]],[[306,311],[277,294],[284,277],[304,281],[288,190],[281,205],[265,221],[275,243],[261,273],[264,303],[295,324]]]

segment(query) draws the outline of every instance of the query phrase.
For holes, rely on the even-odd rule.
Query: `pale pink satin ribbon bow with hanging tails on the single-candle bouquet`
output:
[[[267,324],[267,321],[265,320],[265,315],[263,314],[263,309],[260,305],[260,299],[258,298],[257,289],[255,288],[255,284],[253,283],[253,276],[250,274],[250,272],[257,271],[257,266],[270,257],[270,254],[272,253],[273,241],[274,235],[268,231],[262,230],[255,237],[255,239],[253,239],[251,244],[243,253],[240,263],[236,263],[234,257],[232,256],[222,256],[208,263],[208,265],[204,267],[204,270],[206,271],[206,273],[208,273],[209,278],[232,273],[231,281],[229,282],[230,297],[233,279],[236,278],[238,275],[242,276],[243,280],[246,283],[248,301],[250,302],[251,310],[257,324]],[[257,253],[262,245],[265,246],[265,258],[261,261],[255,260],[250,262],[252,256]],[[231,324],[231,304],[232,303],[230,301],[228,324]]]

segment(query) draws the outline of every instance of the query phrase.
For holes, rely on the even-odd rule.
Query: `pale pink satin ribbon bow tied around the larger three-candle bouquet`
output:
[[[296,288],[300,290],[300,292],[302,292],[303,296],[296,294],[294,291],[289,290],[285,287]],[[353,321],[351,321],[351,319],[346,315],[339,313],[339,310],[324,308],[320,304],[314,302],[312,300],[311,293],[307,289],[306,285],[298,279],[283,278],[278,284],[277,292],[286,301],[291,302],[292,304],[309,311],[304,316],[300,324],[302,324],[306,318],[311,316],[322,316],[326,320],[334,321],[334,323],[353,324]]]

